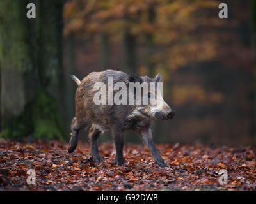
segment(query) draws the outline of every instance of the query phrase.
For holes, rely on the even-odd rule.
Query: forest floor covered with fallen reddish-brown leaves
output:
[[[256,191],[255,147],[159,144],[167,168],[154,164],[143,145],[124,145],[124,166],[114,163],[111,143],[99,149],[103,162],[95,164],[88,143],[68,154],[59,141],[0,138],[0,191]],[[221,169],[227,184],[218,182]]]

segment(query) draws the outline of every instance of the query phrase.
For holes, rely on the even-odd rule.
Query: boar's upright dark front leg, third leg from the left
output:
[[[115,141],[116,147],[116,156],[115,156],[115,163],[119,166],[124,164],[124,157],[123,157],[123,147],[124,147],[124,133],[119,131],[112,131],[112,135]]]

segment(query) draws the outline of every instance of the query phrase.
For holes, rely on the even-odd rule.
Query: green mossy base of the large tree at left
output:
[[[45,91],[40,91],[36,98],[26,105],[24,112],[8,122],[0,137],[32,135],[35,138],[65,140],[67,134],[64,129],[56,99]]]

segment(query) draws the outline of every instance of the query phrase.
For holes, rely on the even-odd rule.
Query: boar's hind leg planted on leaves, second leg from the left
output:
[[[97,142],[100,133],[101,133],[101,131],[99,129],[93,128],[93,126],[89,130],[89,139],[90,139],[90,143],[91,143],[91,154],[92,154],[93,160],[98,164],[101,162],[99,150],[98,150],[98,142]]]

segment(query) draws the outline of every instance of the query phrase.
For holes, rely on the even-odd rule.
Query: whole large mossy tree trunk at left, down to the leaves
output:
[[[64,2],[36,1],[36,19],[26,18],[30,1],[0,2],[0,136],[65,138],[58,114]]]

